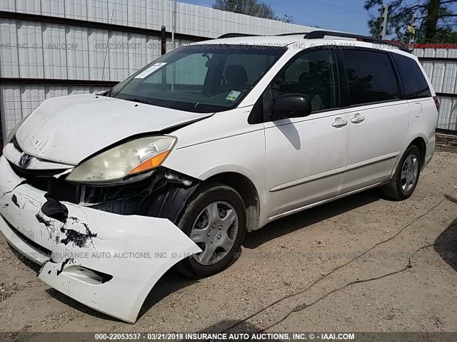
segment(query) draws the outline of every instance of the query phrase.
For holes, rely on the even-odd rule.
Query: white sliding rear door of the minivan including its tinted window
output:
[[[338,50],[346,78],[348,164],[341,193],[386,180],[408,133],[404,100],[390,53],[368,48]]]

